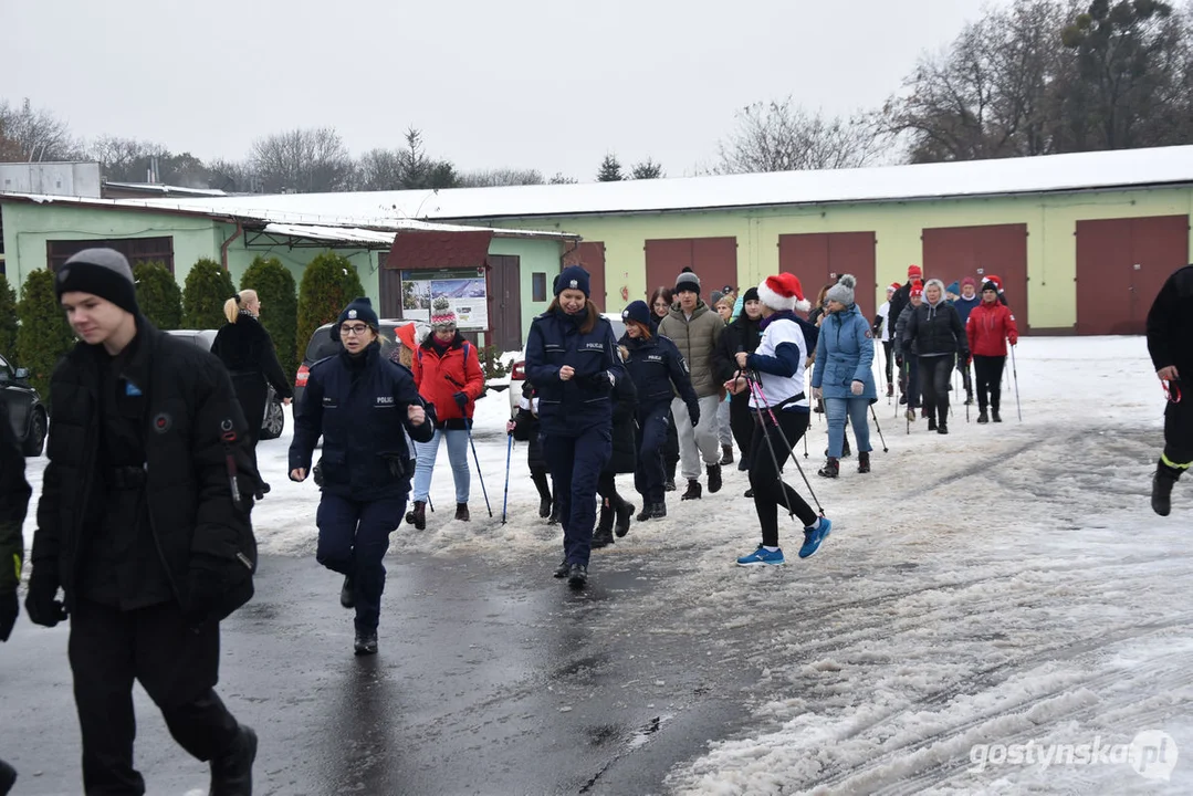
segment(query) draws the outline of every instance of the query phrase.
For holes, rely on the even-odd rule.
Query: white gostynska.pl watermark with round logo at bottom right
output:
[[[975,743],[970,747],[971,773],[1002,766],[1125,765],[1145,779],[1168,780],[1176,766],[1176,741],[1168,733],[1143,730],[1130,743],[1107,743],[1095,735],[1088,743]]]

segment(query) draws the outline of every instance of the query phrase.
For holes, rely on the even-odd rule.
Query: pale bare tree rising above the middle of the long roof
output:
[[[715,174],[857,168],[883,148],[880,127],[869,116],[826,118],[795,105],[754,103],[737,112],[737,129],[718,142]]]

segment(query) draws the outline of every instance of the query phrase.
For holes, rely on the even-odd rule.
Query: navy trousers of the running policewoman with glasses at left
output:
[[[324,492],[319,504],[315,559],[332,572],[352,578],[358,631],[377,630],[381,594],[385,591],[382,560],[389,549],[389,535],[404,513],[406,498],[359,501]]]

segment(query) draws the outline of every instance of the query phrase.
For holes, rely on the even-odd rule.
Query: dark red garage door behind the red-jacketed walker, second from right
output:
[[[1027,224],[925,229],[923,272],[946,285],[964,277],[996,274],[1021,332],[1027,319]]]

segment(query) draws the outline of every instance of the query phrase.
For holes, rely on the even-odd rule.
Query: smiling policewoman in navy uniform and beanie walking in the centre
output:
[[[612,453],[610,393],[624,376],[610,322],[588,300],[588,272],[569,266],[555,298],[530,325],[526,377],[538,388],[546,461],[560,501],[563,561],[556,578],[573,588],[588,582],[596,522],[596,482]]]

